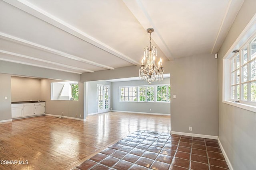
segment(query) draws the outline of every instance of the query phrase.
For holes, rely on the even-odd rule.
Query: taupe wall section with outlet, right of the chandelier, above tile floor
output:
[[[217,59],[202,54],[170,64],[171,131],[218,136]],[[192,131],[189,131],[192,127]]]

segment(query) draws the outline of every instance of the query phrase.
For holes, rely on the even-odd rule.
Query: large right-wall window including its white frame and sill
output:
[[[222,102],[256,112],[256,34],[246,29],[223,57]]]

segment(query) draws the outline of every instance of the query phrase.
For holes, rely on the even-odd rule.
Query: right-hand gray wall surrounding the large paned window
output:
[[[256,1],[245,0],[218,52],[219,139],[234,170],[256,167],[256,113],[222,103],[222,58],[256,14]]]

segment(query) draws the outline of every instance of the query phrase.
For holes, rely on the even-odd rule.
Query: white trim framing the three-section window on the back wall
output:
[[[155,85],[136,85],[136,86],[119,86],[119,102],[140,102],[140,103],[170,103],[170,101],[166,101],[166,102],[162,102],[162,101],[157,101],[157,86],[170,86],[170,84],[155,84]],[[151,87],[154,87],[154,101],[139,101],[139,87],[141,86],[151,86]],[[124,100],[121,100],[121,88],[124,88],[124,87],[136,87],[137,88],[137,101],[124,101]]]

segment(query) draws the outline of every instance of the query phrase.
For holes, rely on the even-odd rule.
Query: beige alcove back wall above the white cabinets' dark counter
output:
[[[11,77],[12,102],[41,99],[41,81],[38,78]]]

